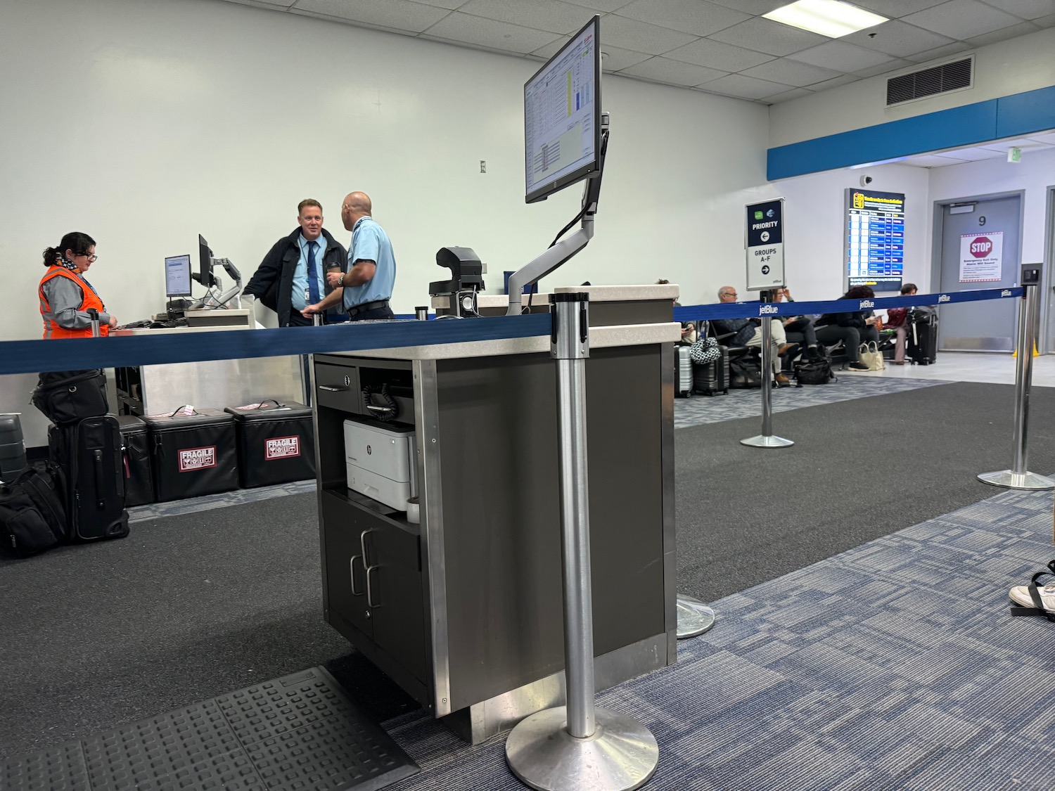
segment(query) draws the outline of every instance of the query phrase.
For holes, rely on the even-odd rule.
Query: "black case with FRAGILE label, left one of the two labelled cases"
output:
[[[143,418],[158,502],[238,487],[234,416],[219,409]]]

